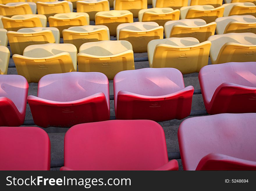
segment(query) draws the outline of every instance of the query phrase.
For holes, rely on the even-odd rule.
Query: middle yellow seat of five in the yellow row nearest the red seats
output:
[[[77,61],[79,72],[102,72],[109,80],[120,71],[134,69],[132,45],[124,40],[84,43]]]

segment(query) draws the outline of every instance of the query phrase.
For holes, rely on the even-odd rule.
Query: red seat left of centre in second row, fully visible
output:
[[[28,103],[41,127],[109,120],[109,80],[99,72],[48,74],[38,83],[38,97],[28,96]]]

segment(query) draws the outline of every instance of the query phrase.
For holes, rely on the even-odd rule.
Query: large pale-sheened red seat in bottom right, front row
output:
[[[184,170],[255,170],[256,114],[191,117],[179,126]]]

